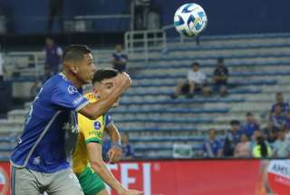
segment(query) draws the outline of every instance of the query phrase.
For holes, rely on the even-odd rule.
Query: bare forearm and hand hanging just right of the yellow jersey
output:
[[[109,150],[109,163],[117,163],[121,159],[121,135],[118,131],[117,127],[115,125],[108,126],[105,131],[108,133],[108,135],[111,138],[111,149]]]

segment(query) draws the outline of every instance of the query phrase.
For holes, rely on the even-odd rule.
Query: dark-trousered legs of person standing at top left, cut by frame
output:
[[[55,18],[58,20],[61,32],[63,32],[63,0],[48,0],[48,32],[52,31]]]

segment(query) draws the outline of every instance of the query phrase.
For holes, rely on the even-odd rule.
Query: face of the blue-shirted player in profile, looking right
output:
[[[88,84],[92,81],[93,73],[96,71],[96,67],[93,64],[92,54],[84,54],[83,59],[77,64],[76,77],[82,84]]]

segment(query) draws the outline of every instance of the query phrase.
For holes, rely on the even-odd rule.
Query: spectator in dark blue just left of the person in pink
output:
[[[241,128],[238,120],[232,120],[230,122],[231,130],[227,131],[225,144],[224,144],[224,155],[234,156],[235,148],[241,139]]]

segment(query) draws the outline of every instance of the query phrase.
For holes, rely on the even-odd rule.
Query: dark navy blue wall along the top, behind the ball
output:
[[[113,3],[112,3],[113,2]],[[124,14],[129,13],[128,0],[94,1],[66,0],[64,17],[72,19],[74,15],[85,14]],[[173,14],[179,5],[188,0],[152,1],[152,9],[160,13],[162,25],[173,23]],[[208,34],[247,33],[247,32],[290,32],[286,24],[289,18],[290,2],[280,0],[195,0],[208,14]],[[4,7],[8,27],[11,32],[44,32],[46,27],[47,1],[0,0]],[[36,20],[35,20],[36,19]],[[123,32],[129,30],[128,20],[102,20],[93,23],[93,28],[100,32]]]

